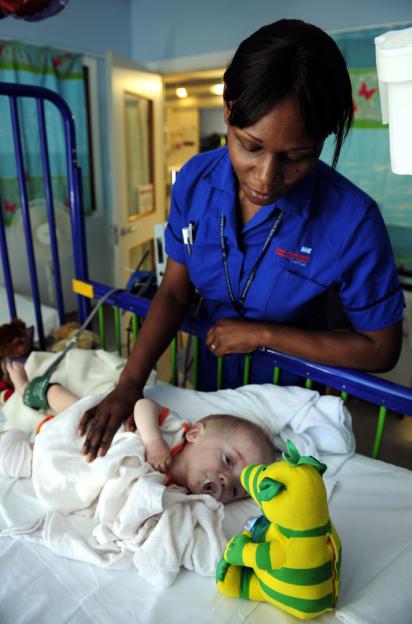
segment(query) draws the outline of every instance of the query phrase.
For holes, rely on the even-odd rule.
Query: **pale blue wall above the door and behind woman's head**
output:
[[[234,50],[281,17],[328,31],[410,21],[412,0],[131,0],[132,58],[148,63]]]

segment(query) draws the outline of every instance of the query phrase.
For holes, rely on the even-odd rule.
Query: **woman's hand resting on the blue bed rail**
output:
[[[221,319],[207,332],[206,346],[216,357],[251,353],[263,346],[262,323]]]

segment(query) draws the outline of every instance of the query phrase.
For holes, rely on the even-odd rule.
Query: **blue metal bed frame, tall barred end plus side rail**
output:
[[[49,226],[50,226],[50,238],[51,238],[51,254],[53,262],[53,270],[55,275],[55,289],[56,300],[59,312],[60,322],[63,323],[64,318],[64,302],[62,298],[61,278],[59,269],[59,254],[58,254],[58,242],[56,237],[55,221],[54,221],[54,209],[53,209],[53,194],[51,187],[50,177],[50,163],[47,148],[47,135],[44,121],[44,103],[46,101],[54,104],[61,113],[65,146],[67,156],[67,179],[69,187],[69,208],[70,208],[70,220],[72,227],[72,248],[74,257],[74,281],[73,288],[77,293],[77,307],[78,317],[80,322],[83,322],[90,308],[90,301],[100,300],[106,295],[110,286],[101,284],[89,279],[88,266],[87,266],[87,253],[86,253],[86,236],[84,225],[84,214],[81,194],[81,171],[77,163],[76,156],[76,140],[75,140],[75,128],[70,109],[64,100],[48,89],[39,87],[24,86],[9,83],[0,83],[0,96],[7,96],[10,103],[10,115],[13,128],[14,147],[16,155],[16,166],[18,171],[18,184],[20,193],[20,208],[23,216],[23,226],[25,233],[25,241],[27,248],[27,260],[29,264],[30,279],[33,292],[33,306],[35,310],[35,318],[39,335],[40,347],[43,348],[45,343],[45,336],[43,331],[43,323],[41,318],[40,308],[40,296],[36,273],[36,261],[32,242],[32,234],[30,228],[30,210],[27,200],[27,190],[24,178],[24,156],[22,153],[22,141],[20,134],[20,122],[18,111],[18,99],[19,98],[34,98],[36,100],[37,114],[38,114],[38,126],[39,136],[41,142],[41,158],[44,175],[44,188],[45,198],[47,204]],[[1,164],[0,164],[1,171]],[[1,198],[0,198],[1,200]],[[8,305],[10,318],[16,317],[16,307],[14,303],[14,289],[13,280],[10,270],[9,254],[7,249],[7,240],[4,221],[0,211],[0,257],[3,266],[4,281],[7,290]],[[116,346],[121,351],[121,338],[120,338],[120,310],[129,311],[132,314],[132,327],[134,339],[138,337],[138,327],[140,320],[143,319],[150,306],[150,300],[143,297],[132,295],[127,291],[118,291],[108,297],[107,305],[112,306],[114,310],[114,322],[116,331]],[[102,310],[99,315],[99,327],[102,338],[102,346],[104,348],[104,316]],[[187,318],[182,324],[181,329],[195,338],[194,342],[194,375],[193,385],[196,387],[197,376],[199,370],[196,366],[196,352],[198,346],[198,340],[204,339],[207,326],[204,321],[200,319]],[[176,353],[177,353],[176,339],[172,343],[172,357],[173,357],[173,381],[177,381],[176,373]],[[412,389],[394,384],[388,381],[384,381],[358,371],[353,371],[345,368],[335,368],[331,366],[324,366],[321,364],[315,364],[313,362],[299,360],[294,357],[290,357],[269,349],[262,349],[253,353],[250,356],[245,356],[245,374],[244,383],[248,382],[250,367],[253,366],[253,362],[259,358],[269,358],[274,367],[274,383],[279,382],[281,370],[286,370],[297,374],[305,380],[306,387],[310,388],[313,382],[318,382],[334,388],[341,393],[341,396],[346,399],[349,395],[358,397],[365,401],[374,403],[379,407],[378,421],[376,428],[376,435],[372,449],[372,456],[377,457],[379,454],[383,428],[385,424],[385,418],[387,410],[393,410],[403,415],[412,416]],[[218,362],[218,375],[216,380],[217,388],[224,387],[224,379],[222,378],[222,367]]]

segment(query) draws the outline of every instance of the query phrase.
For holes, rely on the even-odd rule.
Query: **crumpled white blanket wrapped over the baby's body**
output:
[[[77,428],[99,398],[82,399],[44,426],[34,447],[32,482],[47,511],[0,535],[26,537],[60,556],[105,568],[136,568],[161,587],[173,583],[181,566],[213,576],[226,543],[223,505],[211,496],[166,488],[133,433],[119,431],[106,457],[87,463]],[[166,426],[170,436],[178,434],[177,419],[168,418]],[[5,501],[3,512],[13,525]]]

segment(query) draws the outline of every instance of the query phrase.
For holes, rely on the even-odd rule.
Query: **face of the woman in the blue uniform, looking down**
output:
[[[291,97],[252,126],[237,128],[228,124],[227,142],[241,207],[253,213],[305,177],[315,166],[321,149],[315,153],[315,141],[308,136],[299,107]]]

